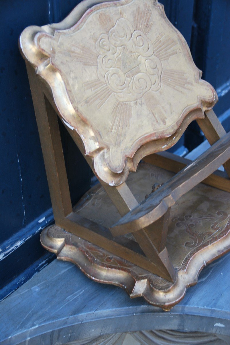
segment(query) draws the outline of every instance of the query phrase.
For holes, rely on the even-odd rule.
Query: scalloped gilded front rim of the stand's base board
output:
[[[90,279],[119,286],[131,298],[143,297],[147,303],[169,311],[184,298],[189,286],[197,284],[205,266],[229,252],[229,226],[227,230],[218,240],[201,246],[189,258],[186,267],[178,268],[175,283],[144,270],[140,274],[136,265],[56,225],[43,229],[40,239],[42,246],[55,253],[57,259],[74,263]]]

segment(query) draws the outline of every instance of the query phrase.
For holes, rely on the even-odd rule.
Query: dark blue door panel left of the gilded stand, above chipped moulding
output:
[[[44,7],[47,1],[0,3],[0,242],[51,206],[25,64],[18,50],[25,26],[48,21]]]

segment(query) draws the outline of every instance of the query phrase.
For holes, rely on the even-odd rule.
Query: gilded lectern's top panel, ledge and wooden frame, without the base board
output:
[[[171,206],[201,181],[230,190],[229,180],[214,173],[222,164],[230,173],[229,135],[210,110],[216,91],[201,79],[185,39],[157,0],[93,7],[86,0],[74,13],[61,23],[26,28],[19,40],[55,223],[175,282],[166,248]],[[72,208],[57,116],[122,217],[110,230]],[[212,145],[207,155],[176,164],[172,156],[157,155],[193,120]],[[139,204],[126,180],[146,156],[179,172]]]

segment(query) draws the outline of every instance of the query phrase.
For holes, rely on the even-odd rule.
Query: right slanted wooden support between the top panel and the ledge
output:
[[[226,135],[226,131],[212,109],[205,112],[204,119],[198,119],[196,121],[210,145],[213,145],[217,140]],[[230,177],[230,160],[225,162],[223,167]]]

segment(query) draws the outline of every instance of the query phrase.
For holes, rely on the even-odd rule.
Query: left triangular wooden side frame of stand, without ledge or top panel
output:
[[[135,239],[145,254],[143,256],[143,253],[140,254],[140,250],[138,251],[135,248],[135,243],[133,243],[132,240],[128,240],[126,238],[123,239],[123,243],[126,243],[127,245],[124,246],[121,244],[119,239],[114,239],[110,235],[108,229],[103,228],[88,219],[76,216],[76,214],[72,212],[57,114],[48,100],[48,98],[50,100],[52,98],[50,97],[48,90],[42,88],[42,83],[35,75],[33,67],[28,63],[26,64],[26,67],[42,145],[48,185],[51,191],[51,202],[56,225],[63,227],[65,230],[80,236],[89,242],[105,248],[113,254],[118,255],[119,253],[119,255],[124,259],[127,259],[150,272],[158,274],[170,281],[175,281],[176,274],[169,260],[167,249],[164,244],[159,245],[159,250],[155,248],[155,242],[151,241],[152,235],[150,234],[149,229],[146,229],[146,231],[138,231],[135,234]],[[76,144],[79,145],[79,139],[77,138],[76,132],[70,130],[66,124],[64,125]],[[107,189],[107,187],[105,187],[105,189]],[[109,196],[111,196],[111,199],[113,199],[114,193],[111,193],[109,188],[107,191]],[[117,197],[117,200],[113,199],[114,204],[116,207],[120,205],[118,208],[122,215],[138,205],[138,202],[135,200],[126,184],[123,184],[118,188],[114,187],[113,191],[115,191],[115,195]],[[127,193],[127,196],[125,196],[125,193]]]

